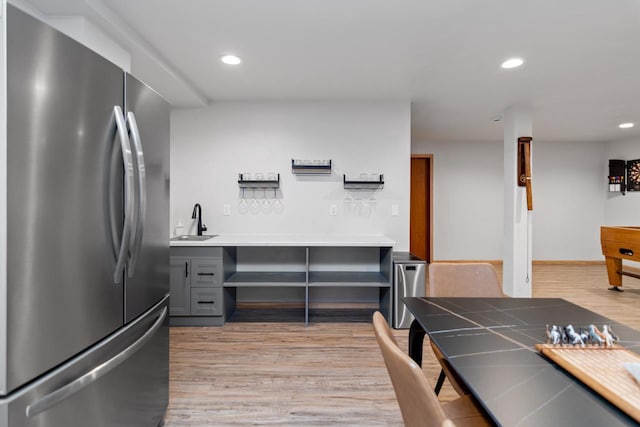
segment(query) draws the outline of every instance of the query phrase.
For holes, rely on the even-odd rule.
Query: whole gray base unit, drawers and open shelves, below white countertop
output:
[[[391,315],[391,246],[173,246],[171,325],[222,326],[236,309],[375,305]],[[313,307],[312,307],[313,306]],[[252,307],[253,308],[253,307]],[[301,318],[302,320],[302,318]]]

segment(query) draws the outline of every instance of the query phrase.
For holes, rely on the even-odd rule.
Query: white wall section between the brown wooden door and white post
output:
[[[414,142],[433,154],[433,260],[502,259],[502,142]]]

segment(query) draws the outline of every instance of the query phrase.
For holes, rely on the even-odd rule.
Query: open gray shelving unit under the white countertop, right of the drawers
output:
[[[240,246],[223,253],[229,314],[236,299],[245,304],[293,299],[304,305],[305,324],[310,307],[327,300],[331,305],[364,300],[391,313],[391,246]],[[322,310],[314,307],[314,318]]]

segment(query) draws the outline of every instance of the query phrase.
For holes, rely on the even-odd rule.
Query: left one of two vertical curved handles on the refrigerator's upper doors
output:
[[[127,133],[127,125],[124,121],[124,114],[119,105],[113,107],[113,114],[116,118],[116,127],[120,137],[122,148],[122,162],[124,163],[124,227],[122,228],[122,238],[120,239],[120,249],[116,258],[116,268],[113,273],[113,282],[122,281],[122,273],[127,260],[129,242],[131,240],[131,228],[133,221],[133,157],[131,155],[131,143]]]

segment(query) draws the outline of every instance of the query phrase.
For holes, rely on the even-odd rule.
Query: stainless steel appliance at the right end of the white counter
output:
[[[410,252],[393,253],[393,307],[391,326],[407,329],[413,315],[402,302],[402,297],[423,297],[426,294],[426,262]]]

